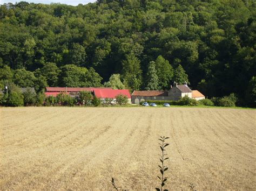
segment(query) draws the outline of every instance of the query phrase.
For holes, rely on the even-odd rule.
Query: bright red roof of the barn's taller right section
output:
[[[128,89],[94,89],[95,96],[98,98],[116,98],[117,95],[126,95],[131,98],[130,91]]]

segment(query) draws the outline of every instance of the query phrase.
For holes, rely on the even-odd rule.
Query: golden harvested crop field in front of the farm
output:
[[[0,189],[256,190],[256,110],[0,108]]]

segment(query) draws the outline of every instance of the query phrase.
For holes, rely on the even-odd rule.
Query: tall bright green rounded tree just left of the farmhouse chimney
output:
[[[173,79],[173,68],[168,60],[165,60],[163,56],[158,56],[155,62],[157,77],[159,80],[159,87],[161,89],[168,89]]]

